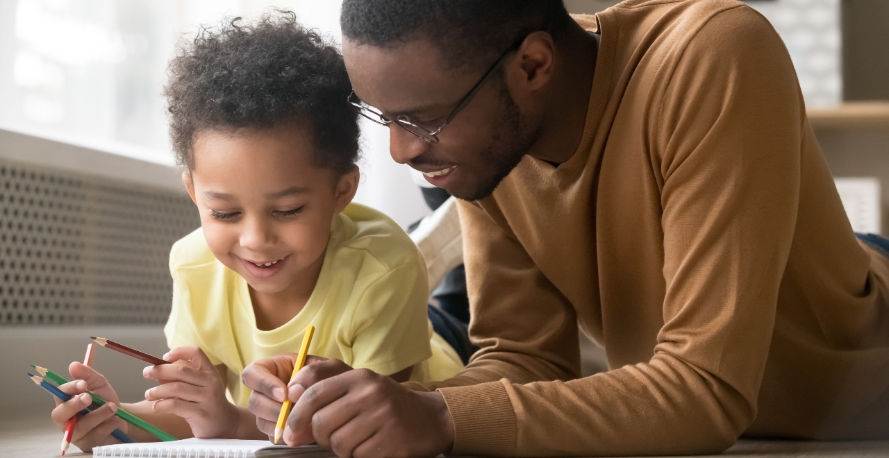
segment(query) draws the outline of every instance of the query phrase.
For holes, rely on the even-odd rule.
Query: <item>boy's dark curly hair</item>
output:
[[[228,20],[202,28],[170,61],[164,96],[176,162],[195,167],[201,130],[267,129],[306,122],[316,164],[348,172],[358,159],[357,113],[346,99],[351,84],[340,51],[293,12],[264,15],[255,24]]]

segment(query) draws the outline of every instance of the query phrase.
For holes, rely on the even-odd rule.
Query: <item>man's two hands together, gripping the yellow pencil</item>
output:
[[[251,411],[269,435],[280,410],[276,399],[283,400],[286,388],[295,402],[284,430],[288,445],[315,441],[340,456],[360,458],[435,456],[453,445],[453,421],[440,393],[411,391],[386,375],[355,370],[337,359],[303,367],[284,387],[273,374],[281,373],[291,357],[278,358],[264,360],[262,369],[254,367],[243,379],[260,393],[255,402],[251,398]],[[268,423],[260,425],[260,417]]]

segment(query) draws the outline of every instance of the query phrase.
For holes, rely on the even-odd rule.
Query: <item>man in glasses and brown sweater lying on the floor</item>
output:
[[[288,443],[564,456],[889,437],[889,251],[856,240],[757,12],[346,0],[341,24],[356,106],[397,162],[465,200],[481,350],[426,385],[312,364],[286,388]],[[578,325],[609,372],[578,378]],[[244,372],[263,430],[290,367]]]

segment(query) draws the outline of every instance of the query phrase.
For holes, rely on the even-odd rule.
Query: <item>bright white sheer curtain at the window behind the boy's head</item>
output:
[[[0,127],[172,164],[161,88],[175,43],[275,8],[340,43],[336,0],[0,0]],[[356,201],[402,226],[424,216],[388,130],[363,123],[362,146]]]

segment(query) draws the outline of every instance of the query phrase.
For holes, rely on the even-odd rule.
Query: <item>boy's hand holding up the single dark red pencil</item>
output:
[[[239,415],[225,396],[225,383],[204,351],[177,347],[164,355],[172,364],[149,366],[145,378],[163,383],[145,391],[154,411],[177,415],[196,438],[235,438]]]

